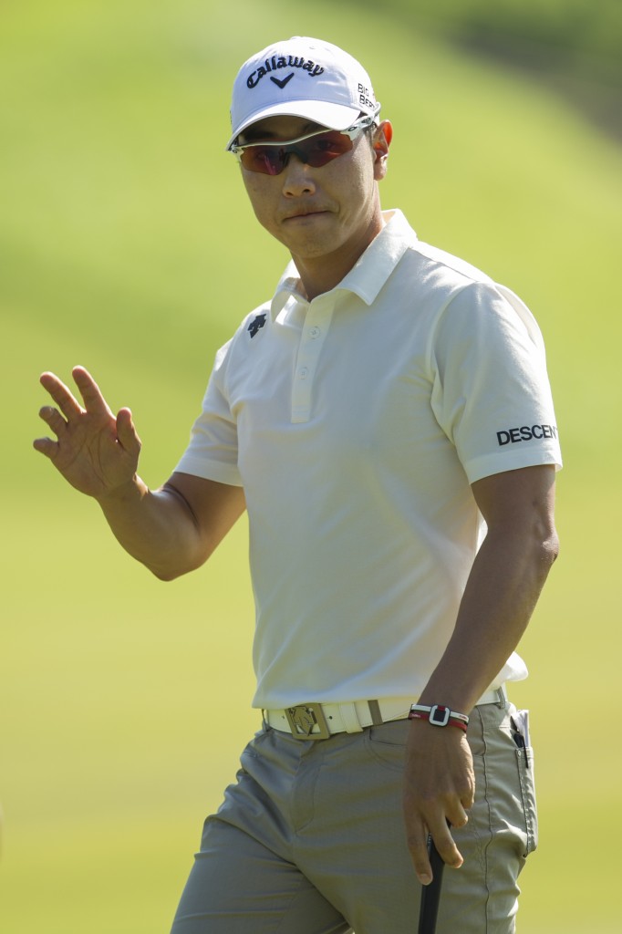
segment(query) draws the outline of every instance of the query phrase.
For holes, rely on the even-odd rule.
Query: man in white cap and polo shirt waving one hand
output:
[[[188,450],[136,475],[131,413],[54,375],[35,447],[163,580],[247,508],[263,726],[175,934],[401,934],[445,863],[442,934],[515,929],[535,846],[526,716],[505,683],[557,555],[544,347],[509,290],[420,243],[378,183],[392,130],[343,50],[294,37],[245,63],[228,149],[289,251],[217,355]]]

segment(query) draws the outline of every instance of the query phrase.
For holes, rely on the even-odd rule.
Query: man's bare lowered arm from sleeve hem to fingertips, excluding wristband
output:
[[[555,467],[525,467],[473,484],[488,533],[474,560],[456,628],[419,701],[468,714],[502,670],[526,630],[558,555]],[[422,884],[431,881],[428,832],[449,866],[462,857],[447,822],[462,827],[474,802],[466,734],[413,720],[406,748],[404,819]]]

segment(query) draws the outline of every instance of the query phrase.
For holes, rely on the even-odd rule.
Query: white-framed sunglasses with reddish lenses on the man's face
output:
[[[298,156],[305,165],[319,169],[349,152],[356,137],[372,125],[375,125],[375,116],[361,117],[347,130],[316,130],[288,143],[234,144],[231,151],[245,169],[262,175],[280,175],[292,155]]]

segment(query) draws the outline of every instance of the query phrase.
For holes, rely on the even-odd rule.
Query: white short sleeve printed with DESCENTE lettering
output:
[[[561,467],[544,341],[510,290],[470,283],[445,306],[431,345],[432,408],[470,483]]]

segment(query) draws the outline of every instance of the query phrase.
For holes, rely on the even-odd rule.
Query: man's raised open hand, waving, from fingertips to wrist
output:
[[[44,405],[39,416],[56,435],[37,438],[34,446],[81,493],[104,499],[134,478],[140,454],[140,439],[132,413],[110,411],[92,375],[81,366],[72,371],[84,405],[52,373],[41,376],[56,406]]]

